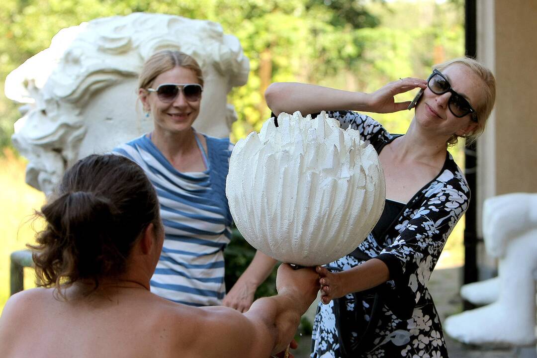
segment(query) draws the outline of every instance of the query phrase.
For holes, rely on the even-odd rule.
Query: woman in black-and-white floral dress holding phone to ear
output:
[[[404,135],[390,134],[367,115],[340,110],[402,111],[410,102],[395,103],[394,96],[417,87],[422,96]],[[491,71],[463,57],[436,65],[427,81],[403,78],[373,93],[274,83],[265,97],[275,114],[325,110],[342,128],[358,130],[378,152],[386,177],[386,205],[367,239],[328,268],[317,267],[322,304],[311,357],[446,358],[426,284],[470,200],[447,148],[484,130],[495,100]]]

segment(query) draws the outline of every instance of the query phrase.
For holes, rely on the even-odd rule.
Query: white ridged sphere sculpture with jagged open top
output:
[[[324,265],[352,252],[384,208],[384,174],[372,145],[321,112],[281,113],[235,145],[226,195],[237,229],[282,262]]]

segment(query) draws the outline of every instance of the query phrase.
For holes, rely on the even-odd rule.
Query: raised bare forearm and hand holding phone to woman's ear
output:
[[[417,87],[425,88],[426,81],[419,78],[403,78],[390,82],[373,93],[349,92],[329,87],[294,82],[277,82],[265,91],[269,108],[278,115],[281,112],[303,115],[320,111],[351,109],[376,113],[391,113],[407,109],[410,101],[396,103],[394,96]]]

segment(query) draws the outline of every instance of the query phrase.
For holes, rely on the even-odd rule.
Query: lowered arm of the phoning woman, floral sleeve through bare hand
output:
[[[318,267],[321,300],[330,302],[393,280],[394,302],[415,306],[429,281],[449,233],[468,207],[469,192],[456,176],[437,182],[425,193],[425,200],[409,209],[408,220],[398,223],[399,235],[378,257],[347,271],[331,273]]]

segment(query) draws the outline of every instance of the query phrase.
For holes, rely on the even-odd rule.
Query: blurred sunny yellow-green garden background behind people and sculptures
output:
[[[4,96],[4,80],[47,48],[61,28],[136,11],[175,14],[220,23],[241,41],[250,59],[248,83],[229,102],[238,120],[233,142],[259,130],[270,111],[263,93],[276,81],[374,91],[400,77],[426,78],[431,65],[464,53],[464,0],[3,0],[0,2],[0,311],[9,297],[9,255],[33,242],[41,223],[33,210],[45,200],[24,182],[26,162],[11,147],[18,105]],[[410,100],[415,92],[397,98]],[[392,133],[404,133],[413,112],[372,115]],[[461,143],[462,144],[462,143]],[[462,147],[451,149],[463,167]],[[462,264],[462,223],[438,266]],[[226,283],[233,284],[253,257],[244,241],[226,250]],[[438,267],[437,266],[437,267]],[[25,287],[33,286],[31,270]],[[258,296],[274,292],[273,277]]]

